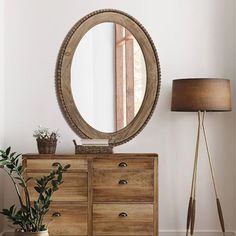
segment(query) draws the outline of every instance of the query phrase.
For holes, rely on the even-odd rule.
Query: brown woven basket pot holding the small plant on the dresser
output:
[[[39,154],[55,154],[57,139],[37,138],[36,141]]]

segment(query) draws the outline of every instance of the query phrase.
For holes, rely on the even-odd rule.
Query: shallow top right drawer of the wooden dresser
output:
[[[152,170],[154,161],[152,158],[99,158],[93,161],[94,170]]]

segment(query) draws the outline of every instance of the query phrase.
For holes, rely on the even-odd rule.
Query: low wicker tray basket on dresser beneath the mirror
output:
[[[75,140],[73,140],[75,145],[75,154],[111,154],[113,153],[112,146],[93,146],[93,145],[78,145],[76,144]]]

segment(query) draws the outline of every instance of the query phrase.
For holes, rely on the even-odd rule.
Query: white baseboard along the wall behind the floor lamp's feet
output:
[[[185,231],[160,231],[159,236],[185,236]],[[236,236],[235,232],[226,232],[224,235],[222,232],[213,231],[196,231],[194,236]]]

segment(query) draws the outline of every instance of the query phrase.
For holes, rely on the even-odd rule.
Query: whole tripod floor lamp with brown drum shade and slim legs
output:
[[[224,218],[217,193],[204,121],[206,117],[206,112],[225,112],[231,111],[231,109],[231,92],[229,80],[206,78],[173,80],[171,111],[197,112],[198,114],[197,140],[195,148],[191,193],[187,213],[186,235],[189,234],[189,231],[191,235],[193,235],[194,233],[198,152],[201,130],[203,132],[207,157],[210,165],[210,172],[216,197],[216,206],[218,210],[219,221],[222,232],[225,232]]]

